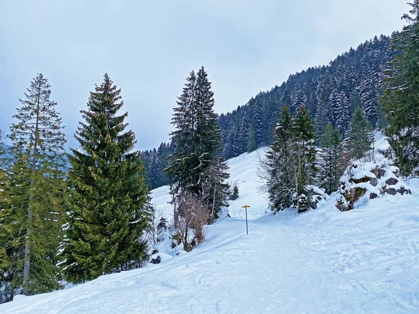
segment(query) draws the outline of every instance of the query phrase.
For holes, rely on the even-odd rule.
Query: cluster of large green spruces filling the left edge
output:
[[[11,147],[0,132],[0,302],[147,259],[148,188],[135,135],[124,133],[126,114],[117,115],[119,92],[105,75],[82,111],[71,155],[42,74],[20,100]]]

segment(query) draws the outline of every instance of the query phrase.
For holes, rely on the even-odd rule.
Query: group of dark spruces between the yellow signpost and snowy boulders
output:
[[[260,159],[258,171],[266,182],[262,190],[272,211],[290,207],[305,211],[313,206],[313,196],[335,192],[351,160],[374,161],[373,142],[372,126],[360,107],[350,121],[346,141],[329,123],[317,143],[305,105],[294,116],[288,106],[282,107],[274,142]]]

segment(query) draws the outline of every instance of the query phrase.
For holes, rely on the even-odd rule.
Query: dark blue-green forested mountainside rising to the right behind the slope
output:
[[[290,75],[281,86],[261,91],[247,104],[221,114],[223,157],[232,158],[270,144],[284,104],[290,107],[291,114],[305,104],[314,118],[318,135],[330,122],[345,137],[356,107],[364,110],[374,128],[379,127],[383,123],[383,111],[378,99],[383,95],[387,63],[396,54],[390,37],[376,36],[357,49],[351,48],[339,55],[328,66],[316,66]],[[168,165],[171,147],[162,143],[159,149],[143,151],[142,160],[151,188],[169,183],[162,170]]]

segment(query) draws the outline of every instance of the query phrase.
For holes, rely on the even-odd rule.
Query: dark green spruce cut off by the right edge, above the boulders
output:
[[[410,14],[402,17],[409,24],[392,40],[399,54],[390,63],[388,88],[381,99],[388,119],[385,134],[406,175],[419,172],[419,0],[409,6]]]

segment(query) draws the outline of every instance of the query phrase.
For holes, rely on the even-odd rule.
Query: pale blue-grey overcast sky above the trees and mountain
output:
[[[138,149],[168,141],[172,108],[205,66],[218,113],[365,40],[402,29],[406,0],[0,0],[0,128],[36,73],[71,147],[103,74],[122,88]]]

